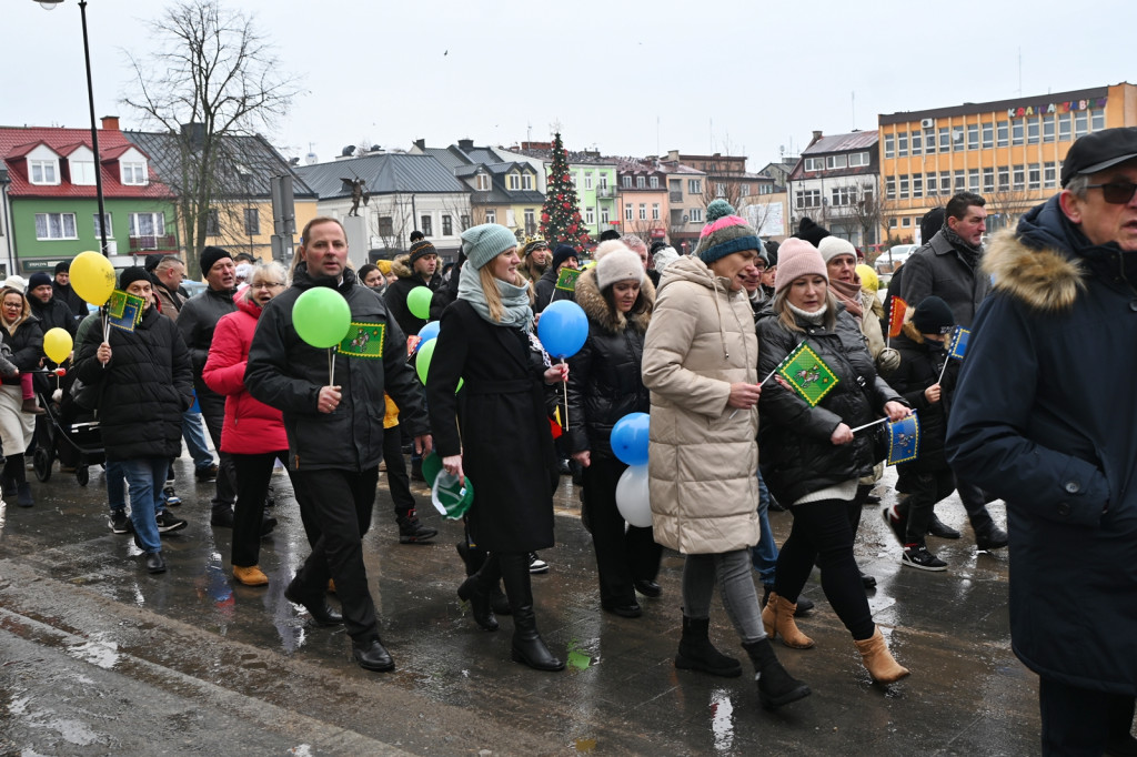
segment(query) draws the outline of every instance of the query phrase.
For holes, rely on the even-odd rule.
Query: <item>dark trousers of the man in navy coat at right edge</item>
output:
[[[1105,744],[1127,737],[1134,697],[1081,689],[1053,679],[1038,681],[1045,757],[1101,757]]]

